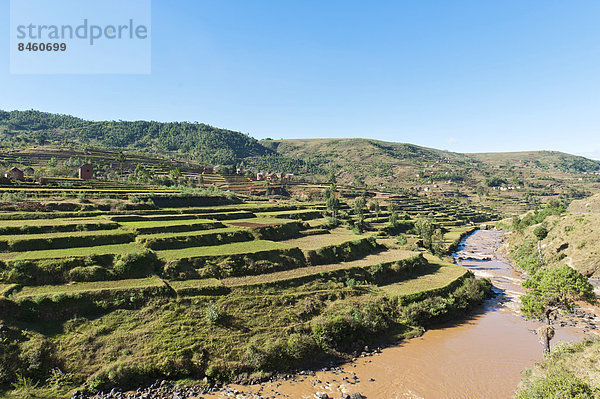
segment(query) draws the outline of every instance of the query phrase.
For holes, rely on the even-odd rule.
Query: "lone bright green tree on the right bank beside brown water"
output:
[[[550,341],[554,337],[552,316],[562,310],[572,312],[576,300],[594,300],[592,285],[587,277],[567,265],[538,271],[523,282],[529,291],[521,296],[521,312],[528,319],[546,321],[538,329],[544,351],[550,352]]]

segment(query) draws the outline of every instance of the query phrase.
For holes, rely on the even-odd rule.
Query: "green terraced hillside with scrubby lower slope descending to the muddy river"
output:
[[[281,353],[312,361],[330,344],[367,344],[405,323],[388,299],[451,295],[468,273],[425,255],[410,228],[431,213],[447,223],[450,245],[472,224],[437,203],[404,206],[403,233],[390,233],[398,226],[383,210],[365,211],[360,234],[348,205],[339,223],[323,204],[298,203],[0,212],[0,306],[11,318],[3,324],[54,344],[66,371],[108,390],[122,376],[137,383],[262,370],[267,363],[257,362],[280,362]],[[348,324],[348,315],[357,319]],[[39,397],[68,398],[77,388]]]

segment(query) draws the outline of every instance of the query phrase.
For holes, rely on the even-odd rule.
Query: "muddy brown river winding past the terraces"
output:
[[[540,325],[518,314],[522,278],[498,251],[502,235],[479,230],[454,254],[458,264],[491,279],[496,296],[459,323],[385,348],[329,371],[255,386],[229,386],[208,398],[331,398],[360,392],[372,399],[510,398],[523,369],[543,357],[535,334]],[[585,309],[592,311],[592,309]],[[564,320],[552,345],[595,333],[595,320]]]

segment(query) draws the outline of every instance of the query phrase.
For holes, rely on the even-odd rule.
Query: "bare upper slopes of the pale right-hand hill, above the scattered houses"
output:
[[[342,181],[358,184],[364,180],[369,185],[467,184],[550,189],[578,181],[581,172],[600,170],[598,161],[556,151],[461,154],[371,139],[261,143],[288,158],[311,159],[323,169],[333,169]]]

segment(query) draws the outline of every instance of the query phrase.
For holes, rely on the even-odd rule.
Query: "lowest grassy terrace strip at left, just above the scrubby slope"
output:
[[[48,296],[54,294],[76,294],[90,291],[125,290],[132,288],[160,287],[164,285],[158,277],[147,277],[116,281],[95,281],[90,283],[72,283],[63,285],[42,285],[37,287],[23,287],[14,294],[15,299]]]

